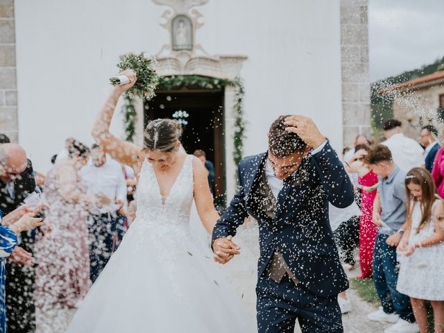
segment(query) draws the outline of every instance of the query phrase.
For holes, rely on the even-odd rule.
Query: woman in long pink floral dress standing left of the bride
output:
[[[78,175],[88,155],[89,148],[74,141],[67,160],[56,163],[46,175],[45,198],[49,208],[45,211],[45,221],[49,230],[43,230],[43,237],[35,244],[38,262],[35,294],[43,314],[74,309],[89,289],[87,206],[91,198]],[[62,318],[52,325],[49,332],[62,332],[66,328]]]

